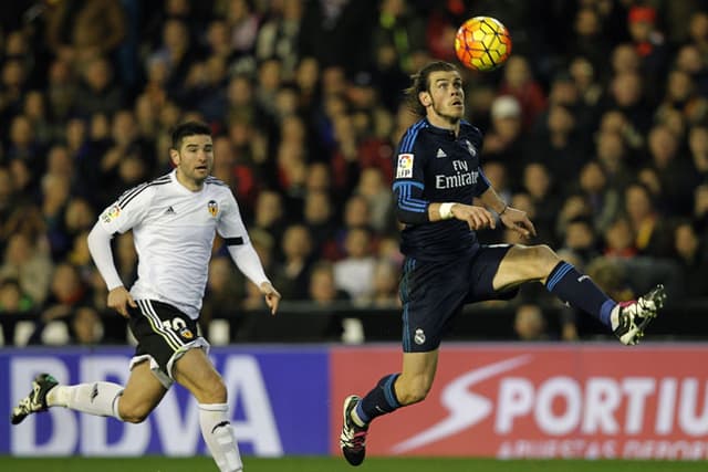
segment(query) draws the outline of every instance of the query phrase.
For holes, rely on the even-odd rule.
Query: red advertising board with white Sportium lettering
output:
[[[698,345],[442,346],[428,398],[377,419],[367,454],[708,459],[706,355]],[[365,394],[399,357],[333,352],[334,397]]]

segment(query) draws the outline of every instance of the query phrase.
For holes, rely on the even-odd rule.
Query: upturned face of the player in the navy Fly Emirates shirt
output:
[[[420,94],[428,119],[436,126],[457,125],[465,116],[465,90],[457,71],[437,71],[428,77],[428,92]]]

